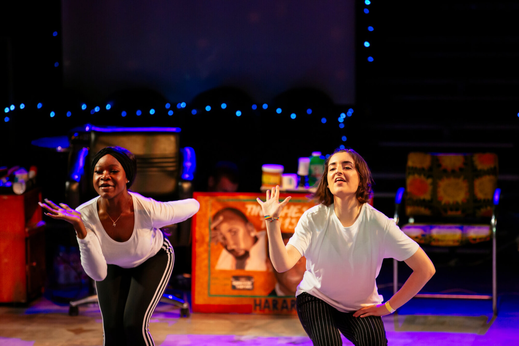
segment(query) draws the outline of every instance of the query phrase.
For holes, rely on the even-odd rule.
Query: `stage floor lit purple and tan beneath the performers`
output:
[[[491,319],[490,301],[413,299],[398,315],[384,316],[390,345],[519,345],[519,296],[499,297]],[[26,308],[0,307],[0,345],[102,345],[97,305],[68,307],[40,298]],[[180,318],[179,310],[159,303],[149,324],[157,346],[304,345],[312,343],[297,316],[201,314]],[[351,342],[344,339],[344,345]]]

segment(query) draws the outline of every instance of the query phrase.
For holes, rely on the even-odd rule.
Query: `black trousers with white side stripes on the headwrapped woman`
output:
[[[153,346],[152,316],[173,269],[174,254],[165,237],[159,252],[135,268],[108,265],[103,281],[96,281],[103,317],[103,346]]]

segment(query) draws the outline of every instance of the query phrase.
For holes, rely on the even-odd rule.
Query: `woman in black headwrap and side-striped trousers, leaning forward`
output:
[[[103,345],[154,345],[149,318],[173,269],[173,248],[160,227],[196,214],[194,199],[158,202],[128,188],[136,162],[130,151],[106,147],[93,157],[98,197],[76,210],[64,203],[39,203],[45,213],[74,226],[81,265],[95,280],[103,317]]]

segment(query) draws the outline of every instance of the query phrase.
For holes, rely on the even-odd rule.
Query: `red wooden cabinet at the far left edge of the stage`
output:
[[[0,302],[28,302],[45,286],[45,223],[39,189],[0,195]]]

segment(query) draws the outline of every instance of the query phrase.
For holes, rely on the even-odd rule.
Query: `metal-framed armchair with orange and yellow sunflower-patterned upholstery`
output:
[[[492,299],[497,314],[496,215],[498,160],[493,153],[409,153],[406,188],[395,198],[395,223],[405,198],[408,223],[399,225],[420,245],[459,246],[492,240],[492,295],[418,294],[425,298]],[[406,193],[404,193],[406,192]],[[490,220],[490,222],[488,222]],[[393,291],[398,290],[398,261],[393,262]]]

